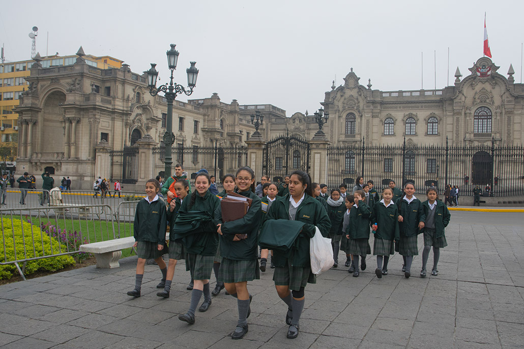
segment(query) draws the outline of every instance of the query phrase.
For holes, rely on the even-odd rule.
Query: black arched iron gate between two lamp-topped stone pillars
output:
[[[309,173],[310,144],[298,136],[280,136],[266,143],[262,169],[272,181],[283,178],[295,170]]]

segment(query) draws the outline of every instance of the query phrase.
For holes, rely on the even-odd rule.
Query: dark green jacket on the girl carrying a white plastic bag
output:
[[[277,198],[267,212],[267,220],[287,219],[289,220],[289,194]],[[331,222],[328,213],[322,204],[313,199],[308,194],[304,195],[300,206],[297,209],[296,221],[303,222],[302,232],[298,236],[298,241],[295,242],[296,250],[292,254],[291,265],[296,267],[310,267],[311,260],[309,256],[309,241],[315,234],[315,226],[319,228],[322,236],[328,236],[331,228]],[[285,230],[275,231],[275,234],[285,234]],[[273,251],[273,263],[277,267],[286,265],[287,256],[279,251]]]

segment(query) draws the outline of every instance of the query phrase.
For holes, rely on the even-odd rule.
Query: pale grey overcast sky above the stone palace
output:
[[[484,12],[493,61],[509,64],[521,82],[521,17],[524,1],[98,1],[5,2],[0,44],[7,61],[30,58],[32,26],[39,28],[43,56],[111,55],[134,72],[157,70],[168,78],[165,52],[180,52],[176,82],[196,61],[198,82],[189,98],[217,92],[222,102],[273,104],[310,113],[324,92],[344,83],[353,67],[367,85],[382,91],[435,87],[454,82],[483,56]],[[51,6],[52,5],[52,6]],[[47,33],[49,46],[46,49]],[[447,50],[450,49],[449,76]],[[423,71],[421,69],[423,53]],[[186,100],[187,97],[179,97]]]

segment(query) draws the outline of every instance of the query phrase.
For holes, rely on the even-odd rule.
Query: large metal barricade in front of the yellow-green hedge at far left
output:
[[[0,265],[15,264],[25,279],[28,261],[79,253],[81,244],[115,239],[113,217],[109,205],[0,209]],[[22,268],[19,263],[24,263]]]

